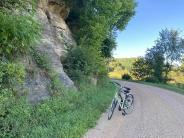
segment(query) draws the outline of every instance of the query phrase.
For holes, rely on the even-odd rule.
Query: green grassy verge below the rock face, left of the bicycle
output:
[[[0,137],[80,138],[96,125],[115,89],[82,85],[80,92],[62,92],[36,106],[1,91]]]

